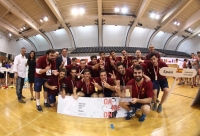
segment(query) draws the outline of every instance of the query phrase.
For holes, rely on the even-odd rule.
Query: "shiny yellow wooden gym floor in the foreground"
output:
[[[171,87],[172,78],[168,81]],[[26,104],[18,103],[15,89],[1,89],[0,136],[200,136],[200,106],[190,107],[197,91],[197,87],[176,85],[163,112],[151,111],[140,123],[141,111],[129,121],[66,116],[57,114],[56,108],[43,108],[40,113],[28,89],[23,90]]]

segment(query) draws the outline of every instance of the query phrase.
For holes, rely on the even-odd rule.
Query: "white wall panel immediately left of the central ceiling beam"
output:
[[[98,26],[78,26],[70,29],[74,36],[76,47],[98,46]]]

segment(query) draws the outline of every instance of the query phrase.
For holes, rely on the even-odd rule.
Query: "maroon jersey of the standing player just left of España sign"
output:
[[[147,64],[147,70],[150,74],[150,78],[152,81],[155,80],[155,76],[157,75],[157,80],[165,79],[165,76],[160,75],[159,70],[162,67],[168,67],[168,65],[165,62],[158,61],[158,66],[154,67],[153,64],[149,60],[145,60],[144,63]],[[156,75],[155,75],[156,73]]]

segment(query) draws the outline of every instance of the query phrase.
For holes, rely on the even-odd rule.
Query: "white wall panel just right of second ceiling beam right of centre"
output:
[[[163,31],[160,31],[156,34],[156,36],[153,38],[152,43],[156,49],[163,49],[167,39],[171,36],[170,33],[165,33]]]

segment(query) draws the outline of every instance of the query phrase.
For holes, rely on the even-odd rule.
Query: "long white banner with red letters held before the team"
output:
[[[118,97],[88,98],[72,96],[64,99],[58,96],[57,113],[86,118],[118,118],[125,117],[127,111],[119,106]]]

